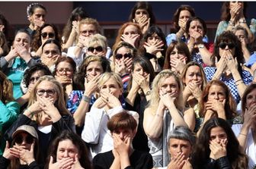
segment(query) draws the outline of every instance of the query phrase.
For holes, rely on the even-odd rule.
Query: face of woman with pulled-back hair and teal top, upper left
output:
[[[24,46],[27,50],[30,48],[30,36],[27,33],[18,33],[13,42],[13,47],[17,45]]]

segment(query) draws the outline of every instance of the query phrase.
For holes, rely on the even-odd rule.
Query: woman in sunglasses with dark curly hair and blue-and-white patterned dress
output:
[[[221,80],[229,86],[230,91],[238,103],[246,86],[252,82],[253,77],[247,70],[242,69],[245,63],[242,45],[231,31],[222,33],[214,45],[216,67],[205,67],[206,80]]]

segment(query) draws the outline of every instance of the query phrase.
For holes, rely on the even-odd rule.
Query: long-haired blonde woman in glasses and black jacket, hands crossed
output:
[[[36,128],[40,147],[48,147],[62,130],[75,132],[74,119],[65,106],[62,85],[54,77],[40,77],[31,91],[27,109],[8,129],[5,138],[10,140],[11,133],[24,124]],[[46,151],[40,151],[41,164],[46,159]]]

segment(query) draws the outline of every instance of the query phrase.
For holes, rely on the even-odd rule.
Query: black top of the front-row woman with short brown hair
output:
[[[109,169],[114,161],[112,150],[109,152],[99,153],[92,161],[94,169]],[[153,159],[149,152],[139,152],[134,150],[130,155],[130,166],[126,169],[151,169],[153,167]]]

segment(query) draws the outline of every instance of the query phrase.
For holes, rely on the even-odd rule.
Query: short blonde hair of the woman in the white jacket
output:
[[[100,79],[98,80],[98,88],[101,89],[108,80],[113,79],[117,82],[118,86],[120,87],[121,91],[123,92],[123,81],[119,74],[114,72],[105,72],[101,75]]]

